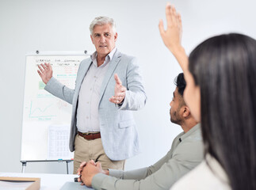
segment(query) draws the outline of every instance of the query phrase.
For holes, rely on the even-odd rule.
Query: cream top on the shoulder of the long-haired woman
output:
[[[231,190],[231,187],[229,185],[227,174],[220,163],[207,154],[206,161],[204,160],[195,169],[178,180],[178,182],[170,189]]]

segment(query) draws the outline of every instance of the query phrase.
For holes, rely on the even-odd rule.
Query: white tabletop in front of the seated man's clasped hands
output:
[[[85,185],[80,185],[80,183],[78,183],[78,182],[74,182],[74,178],[78,177],[78,175],[73,175],[73,174],[0,173],[0,177],[36,177],[36,178],[40,178],[40,190],[93,189],[93,188],[87,188]],[[65,186],[64,186],[64,184],[65,184]],[[0,189],[1,189],[1,187],[0,187]]]

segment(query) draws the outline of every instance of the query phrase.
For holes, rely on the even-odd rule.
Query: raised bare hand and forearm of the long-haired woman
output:
[[[184,48],[181,46],[182,36],[182,23],[181,15],[176,12],[174,6],[166,5],[166,30],[163,27],[162,19],[159,21],[159,32],[162,37],[163,43],[172,52],[181,66],[181,69],[185,72],[188,70],[189,59],[185,54]]]

